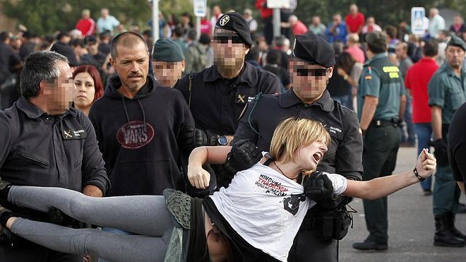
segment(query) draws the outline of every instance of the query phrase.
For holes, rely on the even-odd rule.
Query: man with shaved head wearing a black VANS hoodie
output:
[[[124,32],[112,42],[104,97],[90,109],[112,188],[107,196],[162,195],[185,190],[180,168],[192,149],[194,121],[184,97],[162,88],[148,75],[149,53],[143,37]]]

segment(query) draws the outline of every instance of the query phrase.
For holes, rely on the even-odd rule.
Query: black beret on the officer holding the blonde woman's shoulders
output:
[[[295,36],[292,55],[306,63],[325,68],[335,65],[335,51],[327,41],[313,32]]]

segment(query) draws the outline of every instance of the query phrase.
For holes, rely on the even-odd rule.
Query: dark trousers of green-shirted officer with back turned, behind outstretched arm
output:
[[[393,124],[369,126],[364,137],[362,180],[392,174],[396,165],[398,148],[400,147],[400,130]],[[387,197],[376,200],[364,200],[364,218],[369,231],[367,240],[379,244],[388,243],[388,210]]]

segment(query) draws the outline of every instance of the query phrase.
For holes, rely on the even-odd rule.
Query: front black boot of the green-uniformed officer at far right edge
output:
[[[450,218],[448,214],[435,216],[434,246],[465,246],[465,240],[455,237],[450,231]]]

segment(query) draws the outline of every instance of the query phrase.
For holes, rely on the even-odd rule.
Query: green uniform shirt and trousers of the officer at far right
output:
[[[429,81],[429,106],[442,109],[442,137],[448,139],[448,126],[456,109],[466,102],[466,71],[461,76],[443,64]],[[460,189],[456,186],[450,166],[438,162],[433,192],[434,215],[456,213]]]

